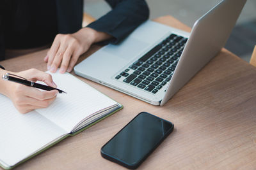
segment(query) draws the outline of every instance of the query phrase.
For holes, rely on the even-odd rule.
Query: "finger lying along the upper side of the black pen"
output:
[[[28,78],[28,80],[44,81],[47,85],[51,87],[54,87],[54,88],[57,87],[56,83],[54,83],[54,81],[52,80],[51,74],[45,73],[43,71],[39,71],[38,69],[29,69],[29,71],[31,72],[31,74],[29,75],[30,78]]]

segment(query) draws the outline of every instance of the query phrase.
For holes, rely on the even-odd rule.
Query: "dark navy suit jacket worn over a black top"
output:
[[[148,18],[149,10],[145,0],[106,1],[113,10],[87,26],[114,37],[105,43],[118,43]],[[4,5],[0,2],[0,60],[3,60],[5,51],[4,18],[1,11],[4,10],[1,8],[4,8]],[[56,0],[56,17],[58,33],[68,34],[78,31],[81,29],[83,21],[83,0]]]

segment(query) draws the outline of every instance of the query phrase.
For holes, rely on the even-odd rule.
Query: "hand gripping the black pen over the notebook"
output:
[[[57,87],[52,81],[51,74],[44,73],[38,69],[28,69],[14,74],[22,76],[29,81],[40,80],[51,87]],[[6,81],[6,85],[6,96],[12,100],[20,113],[28,113],[37,108],[46,108],[56,99],[58,94],[58,90],[41,91],[12,81]]]

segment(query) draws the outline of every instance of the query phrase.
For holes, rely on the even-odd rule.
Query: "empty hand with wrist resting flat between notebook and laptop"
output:
[[[93,43],[108,38],[111,38],[109,34],[89,27],[84,27],[74,34],[58,34],[44,58],[47,69],[55,73],[60,66],[60,73],[72,71],[81,54],[86,52]]]

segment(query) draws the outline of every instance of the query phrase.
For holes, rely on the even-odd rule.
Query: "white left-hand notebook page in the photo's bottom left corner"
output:
[[[0,94],[0,162],[13,166],[54,139],[67,134],[36,111],[21,114]]]

